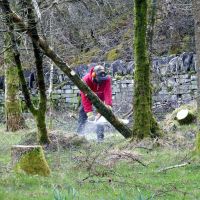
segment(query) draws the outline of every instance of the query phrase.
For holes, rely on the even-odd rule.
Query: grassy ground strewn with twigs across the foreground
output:
[[[109,133],[102,144],[90,140],[80,147],[45,150],[52,170],[46,178],[12,170],[11,145],[34,131],[31,120],[28,123],[31,129],[16,133],[0,126],[0,200],[200,199],[200,160],[192,157],[194,138],[187,134],[194,126],[183,126],[159,140],[129,143]],[[72,125],[55,124],[60,135],[72,131]],[[185,167],[158,172],[188,161]]]

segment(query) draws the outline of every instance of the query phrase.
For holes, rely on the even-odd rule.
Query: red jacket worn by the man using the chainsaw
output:
[[[89,88],[106,104],[112,106],[112,87],[111,78],[109,76],[108,80],[102,81],[98,84],[92,80],[92,72],[94,67],[91,68],[90,72],[83,77],[83,81],[89,86]],[[81,102],[86,113],[92,111],[92,103],[81,92]]]

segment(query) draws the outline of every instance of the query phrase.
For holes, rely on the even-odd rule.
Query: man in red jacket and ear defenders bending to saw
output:
[[[90,72],[83,77],[83,81],[90,87],[90,89],[111,109],[112,106],[112,87],[111,78],[105,72],[105,68],[97,65],[91,68]],[[95,121],[101,115],[93,114],[93,107],[91,101],[81,92],[81,107],[79,111],[78,129],[79,134],[83,134],[84,127],[87,121]],[[97,124],[96,127],[97,140],[104,139],[104,126]]]

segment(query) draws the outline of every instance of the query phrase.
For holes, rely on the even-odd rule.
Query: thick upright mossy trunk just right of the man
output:
[[[134,125],[133,137],[143,139],[158,136],[153,116],[150,83],[150,59],[147,44],[148,0],[134,1]]]

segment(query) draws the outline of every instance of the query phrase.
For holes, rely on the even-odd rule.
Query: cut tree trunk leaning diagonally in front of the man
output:
[[[70,80],[90,99],[92,104],[125,138],[131,137],[132,130],[124,125],[120,120],[108,109],[103,102],[93,93],[90,88],[81,80],[81,78],[72,70],[69,65],[63,61],[59,55],[49,46],[48,42],[43,37],[33,37],[33,33],[28,29],[23,19],[11,10],[8,0],[0,1],[0,7],[5,15],[10,15],[12,22],[14,22],[22,32],[26,32],[33,40],[33,42],[40,46],[46,56],[48,56],[60,68]]]

